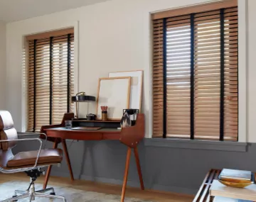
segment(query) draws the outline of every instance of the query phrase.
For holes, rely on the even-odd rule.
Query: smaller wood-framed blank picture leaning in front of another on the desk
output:
[[[96,116],[102,119],[100,106],[108,106],[108,120],[121,120],[123,109],[129,108],[132,77],[100,78],[97,90]]]

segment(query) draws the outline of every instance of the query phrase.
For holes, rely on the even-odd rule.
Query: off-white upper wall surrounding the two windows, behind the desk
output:
[[[239,1],[244,2],[246,0]],[[256,4],[254,0],[248,1],[250,4]],[[150,12],[204,2],[207,2],[207,0],[112,0],[7,24],[6,106],[13,114],[17,128],[21,130],[21,52],[23,35],[64,28],[78,22],[78,90],[96,96],[98,78],[107,77],[108,72],[144,69],[144,101],[142,108],[144,108],[146,114],[146,137],[151,137]],[[250,19],[252,20],[249,23],[253,23],[255,17],[256,13],[252,9],[250,12]],[[256,26],[250,32],[249,34],[255,35]],[[254,48],[256,47],[256,41],[250,40],[249,45],[250,54],[252,54],[256,51]],[[246,65],[244,65],[244,68],[246,69]],[[255,84],[256,79],[253,77],[256,75],[256,70],[253,69],[253,62],[250,63],[249,68],[252,69],[252,74],[247,79]],[[244,92],[242,97],[245,97],[242,103],[244,103],[243,106],[246,106],[246,86],[242,85],[242,89]],[[247,101],[249,103],[249,106],[247,105],[248,111],[254,107],[253,103],[256,103],[255,89],[249,88],[249,90],[252,94],[249,98],[250,101]],[[80,104],[80,111],[83,115],[87,113],[86,106],[86,104]],[[93,104],[90,104],[90,112],[95,112]],[[241,120],[246,120],[246,110],[242,114],[245,117]],[[256,120],[256,113],[250,113],[250,118]],[[256,125],[249,124],[248,127],[247,140],[256,142],[256,137],[254,137]],[[242,128],[246,128],[246,121],[242,122]],[[244,131],[240,136],[245,137],[245,130],[240,131]],[[245,141],[246,138],[241,140]]]

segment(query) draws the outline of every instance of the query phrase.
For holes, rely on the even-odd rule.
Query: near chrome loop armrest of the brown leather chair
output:
[[[14,172],[23,172],[23,171],[28,171],[28,170],[31,170],[31,169],[35,169],[37,167],[38,159],[40,157],[40,153],[41,153],[42,146],[43,146],[43,142],[42,142],[42,140],[40,138],[24,138],[24,139],[16,139],[16,140],[0,140],[0,142],[14,142],[14,141],[15,142],[21,142],[21,141],[33,141],[33,140],[37,140],[38,142],[40,142],[40,147],[39,147],[38,154],[37,154],[37,157],[36,157],[36,162],[35,162],[33,167],[22,168],[22,169],[4,169],[4,168],[0,167],[0,171],[3,172],[3,173],[14,173]]]

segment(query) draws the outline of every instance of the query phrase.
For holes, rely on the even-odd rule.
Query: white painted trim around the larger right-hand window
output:
[[[220,2],[220,1],[217,1]],[[209,3],[203,3],[203,4],[193,4],[182,7],[184,8],[190,8],[194,6],[204,6],[208,5]],[[169,11],[174,11],[176,9],[171,9]],[[166,10],[164,10],[166,11]],[[161,13],[164,11],[152,11],[150,13],[149,18],[149,27],[151,29],[151,56],[150,56],[150,76],[152,78],[153,74],[153,26],[152,26],[152,15],[156,13]],[[247,2],[243,0],[238,0],[238,142],[247,142]],[[149,102],[150,108],[153,109],[153,81],[152,79],[149,80],[149,86],[151,86],[151,90],[149,92],[149,96],[151,97],[151,101]],[[149,111],[149,135],[147,135],[147,138],[153,138],[153,110]],[[154,138],[156,139],[156,138]],[[164,140],[164,138],[162,138]],[[168,139],[175,139],[176,138],[168,138]],[[181,139],[178,139],[181,140]],[[183,140],[181,140],[183,141]],[[203,141],[203,142],[220,142],[215,140],[189,140],[189,141]],[[169,141],[171,142],[171,141]],[[232,143],[232,142],[231,142]]]

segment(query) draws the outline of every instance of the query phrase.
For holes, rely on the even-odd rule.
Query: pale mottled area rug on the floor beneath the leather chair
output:
[[[50,187],[50,185],[49,185]],[[24,181],[9,181],[4,184],[0,184],[0,201],[9,198],[14,195],[14,191],[26,190],[28,188],[28,183]],[[36,184],[36,190],[42,189],[41,184]],[[92,191],[83,191],[79,189],[72,189],[70,187],[58,187],[54,186],[55,193],[58,196],[65,196],[68,202],[119,202],[120,196],[106,194],[106,193],[97,193]],[[21,199],[18,202],[27,202],[28,199]],[[47,202],[50,201],[47,198],[36,198],[36,201]],[[60,199],[54,199],[53,201],[62,201]],[[138,198],[125,198],[125,202],[152,202],[144,201]]]

